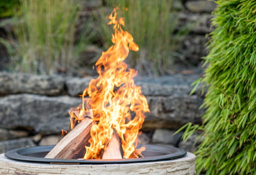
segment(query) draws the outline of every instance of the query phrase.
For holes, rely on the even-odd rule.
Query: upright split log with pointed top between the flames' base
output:
[[[123,150],[121,146],[121,140],[116,132],[113,129],[112,137],[107,143],[106,149],[101,153],[102,159],[116,159],[122,158]]]

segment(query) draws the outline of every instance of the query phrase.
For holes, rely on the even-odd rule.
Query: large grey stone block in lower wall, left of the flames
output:
[[[0,98],[0,127],[31,127],[36,132],[59,133],[69,129],[69,109],[81,103],[69,96],[17,94]]]

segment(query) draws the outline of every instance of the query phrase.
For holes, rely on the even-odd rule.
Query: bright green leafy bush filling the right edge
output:
[[[256,1],[216,2],[201,80],[208,92],[197,172],[256,174]]]

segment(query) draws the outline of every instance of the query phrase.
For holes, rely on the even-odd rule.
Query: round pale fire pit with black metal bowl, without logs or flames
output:
[[[172,146],[144,145],[145,157],[140,158],[44,158],[53,146],[24,147],[6,152],[6,156],[0,154],[0,174],[195,174],[195,155]]]

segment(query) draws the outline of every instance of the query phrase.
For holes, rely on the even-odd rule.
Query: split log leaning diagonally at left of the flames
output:
[[[92,119],[85,117],[65,135],[45,156],[45,158],[76,159],[85,154],[85,145],[90,138]]]

